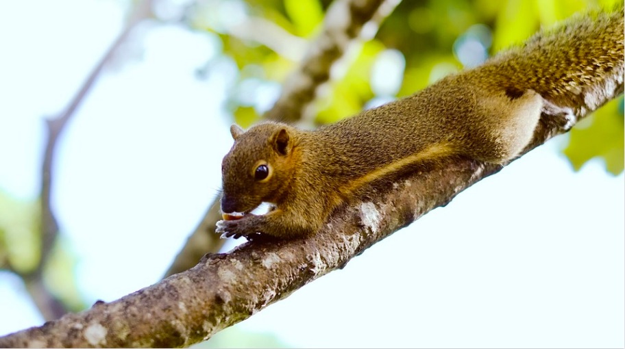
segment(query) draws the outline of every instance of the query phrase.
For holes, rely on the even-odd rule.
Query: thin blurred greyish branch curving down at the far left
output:
[[[13,268],[11,260],[8,257],[3,258],[2,267],[11,270],[19,275],[25,284],[25,287],[31,296],[34,304],[41,312],[45,320],[54,320],[60,318],[68,311],[69,305],[64,304],[44,281],[44,272],[49,265],[50,257],[59,237],[59,226],[51,207],[51,191],[53,188],[53,168],[55,166],[55,155],[60,135],[64,131],[67,123],[71,120],[77,107],[84,101],[85,96],[93,87],[97,77],[103,68],[110,62],[114,53],[121,47],[121,44],[127,39],[132,29],[143,21],[143,19],[151,16],[152,0],[142,0],[135,5],[135,8],[128,18],[127,25],[119,34],[118,38],[111,44],[106,54],[98,62],[88,75],[84,84],[80,87],[77,94],[70,101],[68,107],[55,118],[48,118],[47,125],[47,142],[41,166],[41,194],[40,194],[40,226],[39,233],[39,258],[38,263],[32,270],[22,271],[19,268]]]

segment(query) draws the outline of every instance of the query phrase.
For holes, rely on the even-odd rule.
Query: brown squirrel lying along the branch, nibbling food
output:
[[[575,16],[482,66],[315,131],[232,125],[217,232],[303,237],[336,207],[428,161],[465,156],[506,164],[528,145],[541,114],[564,115],[569,128],[576,110],[565,106],[591,105],[587,89],[615,71],[622,76],[623,18],[622,5]],[[622,77],[619,83],[622,91]],[[273,210],[249,213],[262,202]]]

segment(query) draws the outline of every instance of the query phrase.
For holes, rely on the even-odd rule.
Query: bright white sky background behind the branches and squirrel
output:
[[[127,5],[0,2],[0,222],[29,217],[23,212],[40,190],[43,117],[66,106],[121,31]],[[245,73],[223,54],[219,36],[180,23],[144,23],[127,46],[62,135],[54,169],[64,250],[57,263],[71,273],[49,283],[70,293],[75,285],[84,305],[162,277],[219,189],[221,157],[232,144],[233,86],[256,112],[280,89],[269,79],[237,85]],[[394,50],[373,57],[369,105],[398,93],[404,64]],[[198,73],[207,64],[211,73]],[[431,74],[450,70],[438,68]],[[386,82],[376,82],[380,75]],[[606,172],[602,159],[574,172],[562,154],[568,137],[207,344],[622,348],[624,175]],[[25,244],[27,233],[3,233]],[[42,322],[21,279],[0,271],[0,335]]]

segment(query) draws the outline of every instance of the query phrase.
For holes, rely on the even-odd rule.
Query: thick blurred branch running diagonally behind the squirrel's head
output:
[[[323,31],[310,43],[308,54],[284,82],[280,98],[265,113],[265,120],[301,120],[306,107],[315,99],[317,88],[330,79],[332,66],[343,56],[349,44],[359,36],[364,36],[364,39],[373,38],[380,23],[391,14],[398,3],[400,0],[339,0],[332,3],[323,20]],[[371,27],[365,32],[363,27],[367,23]],[[252,25],[253,23],[248,23],[236,28],[249,28]],[[238,30],[234,31],[239,33]],[[298,42],[295,39],[290,40]],[[188,237],[165,277],[195,266],[206,253],[219,252],[225,242],[215,233],[215,224],[220,219],[218,197]]]

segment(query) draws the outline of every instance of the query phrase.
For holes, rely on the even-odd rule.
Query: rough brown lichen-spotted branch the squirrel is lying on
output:
[[[622,8],[613,16],[620,16],[620,23],[613,24],[607,35],[613,36],[610,40],[617,47],[606,48],[612,51],[605,55],[598,49],[596,56],[587,57],[602,61],[598,66],[603,68],[593,73],[596,79],[585,80],[566,94],[554,94],[561,97],[558,108],[574,114],[554,113],[552,101],[547,100],[524,153],[622,94]],[[548,47],[541,48],[547,50],[543,52],[546,57],[552,57]],[[505,54],[495,59],[506,66]],[[464,75],[467,79],[463,83],[474,86],[476,81],[471,77],[476,75]],[[480,78],[477,75],[476,79]],[[426,97],[417,94],[413,98]],[[0,337],[0,347],[173,347],[197,343],[286,298],[319,276],[343,268],[369,246],[445,205],[501,168],[467,157],[424,164],[386,191],[336,211],[316,235],[298,240],[256,240],[227,254],[206,255],[194,268],[114,302],[97,302],[82,313]]]

